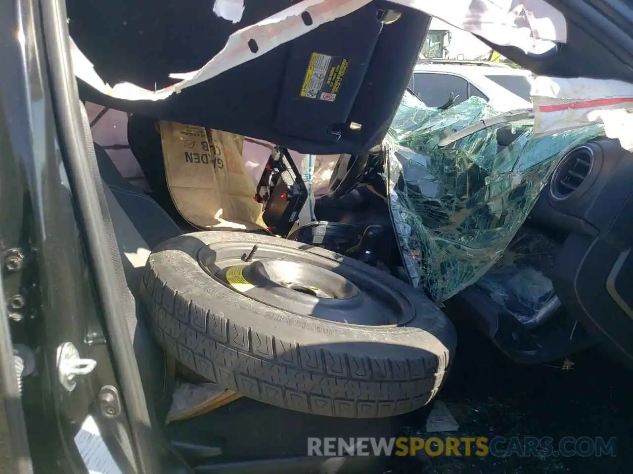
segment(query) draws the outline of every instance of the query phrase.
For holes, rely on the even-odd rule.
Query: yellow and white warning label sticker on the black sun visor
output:
[[[301,87],[301,97],[334,102],[348,66],[347,59],[313,52]]]

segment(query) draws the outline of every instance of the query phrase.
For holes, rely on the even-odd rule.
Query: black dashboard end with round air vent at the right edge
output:
[[[633,363],[633,154],[597,138],[570,150],[526,222],[558,234],[556,295]]]

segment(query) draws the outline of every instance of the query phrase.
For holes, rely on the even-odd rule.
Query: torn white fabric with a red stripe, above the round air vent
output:
[[[537,77],[532,82],[534,135],[603,123],[605,134],[633,151],[633,84],[617,80]]]

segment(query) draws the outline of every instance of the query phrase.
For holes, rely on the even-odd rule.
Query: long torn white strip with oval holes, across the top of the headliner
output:
[[[323,23],[349,15],[371,0],[303,0],[264,20],[230,35],[227,44],[199,70],[172,74],[181,81],[157,91],[130,83],[110,87],[99,78],[90,61],[72,43],[75,75],[92,87],[117,99],[160,100],[173,92],[209,80],[224,71],[257,58],[271,49],[318,28]],[[392,0],[478,34],[496,44],[532,51],[542,41],[565,42],[563,15],[544,0]],[[225,0],[220,3],[234,3]],[[214,8],[217,6],[215,4]],[[306,16],[306,13],[308,16]],[[398,21],[389,25],[398,28]],[[541,45],[542,47],[542,45]],[[540,49],[540,47],[539,47]]]

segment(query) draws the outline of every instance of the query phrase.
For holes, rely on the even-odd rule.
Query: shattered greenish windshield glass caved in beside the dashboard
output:
[[[565,152],[601,125],[532,135],[532,121],[490,126],[439,147],[442,137],[497,115],[471,97],[447,110],[406,92],[389,131],[387,185],[394,228],[414,286],[443,301],[504,254]]]

